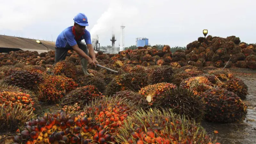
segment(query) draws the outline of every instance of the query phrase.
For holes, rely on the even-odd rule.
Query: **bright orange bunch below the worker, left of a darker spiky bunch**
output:
[[[44,83],[38,85],[38,100],[55,103],[59,101],[66,92],[74,90],[78,86],[76,82],[64,75],[45,75]]]

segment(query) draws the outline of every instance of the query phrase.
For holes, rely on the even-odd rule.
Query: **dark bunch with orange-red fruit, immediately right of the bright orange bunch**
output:
[[[75,103],[84,106],[95,98],[104,97],[101,92],[94,85],[86,85],[83,87],[77,87],[66,94],[62,100],[61,105],[73,105]]]

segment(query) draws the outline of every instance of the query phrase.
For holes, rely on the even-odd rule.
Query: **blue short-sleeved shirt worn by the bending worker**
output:
[[[55,46],[58,48],[71,48],[71,46],[80,43],[83,39],[86,44],[92,44],[91,34],[88,30],[84,30],[84,34],[76,40],[72,31],[73,26],[64,29],[57,37]]]

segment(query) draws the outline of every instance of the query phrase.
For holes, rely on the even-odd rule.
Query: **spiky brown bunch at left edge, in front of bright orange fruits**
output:
[[[3,104],[0,106],[0,132],[15,132],[29,119],[34,118],[33,108],[22,105]],[[2,131],[3,130],[3,131]]]

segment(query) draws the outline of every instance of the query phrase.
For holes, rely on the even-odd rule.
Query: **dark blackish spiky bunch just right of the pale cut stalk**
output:
[[[155,97],[155,108],[171,108],[174,113],[201,121],[204,118],[204,100],[187,88],[177,87]]]

